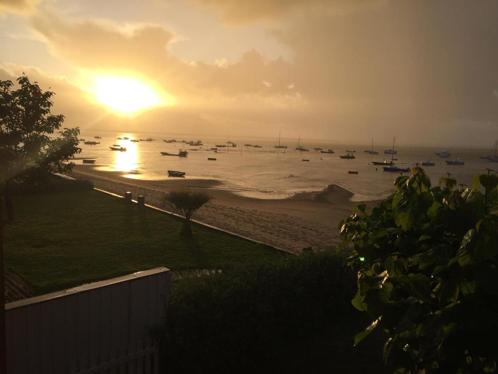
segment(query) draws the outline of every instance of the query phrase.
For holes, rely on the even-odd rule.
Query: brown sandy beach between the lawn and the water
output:
[[[93,165],[76,165],[71,176],[91,180],[95,187],[120,195],[125,191],[131,191],[133,198],[144,195],[146,203],[168,210],[163,201],[165,192],[179,188],[204,190],[214,199],[199,209],[195,219],[292,253],[301,253],[307,246],[320,250],[339,244],[337,226],[358,204],[350,201],[350,191],[336,185],[286,199],[259,199],[240,196],[216,180],[157,181],[123,175],[100,171]]]

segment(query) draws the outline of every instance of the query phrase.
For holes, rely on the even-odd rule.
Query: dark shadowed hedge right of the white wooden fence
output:
[[[296,372],[328,360],[333,368],[346,362],[348,373],[363,373],[365,365],[373,373],[366,356],[354,362],[353,337],[367,323],[350,304],[354,289],[344,256],[334,252],[182,280],[174,285],[161,334],[164,367]],[[380,357],[381,344],[373,348],[372,356]]]

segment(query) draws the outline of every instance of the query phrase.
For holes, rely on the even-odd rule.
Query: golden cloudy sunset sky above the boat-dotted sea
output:
[[[489,149],[498,1],[0,0],[23,72],[82,131]]]

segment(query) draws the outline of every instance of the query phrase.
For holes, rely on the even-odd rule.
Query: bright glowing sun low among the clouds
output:
[[[133,114],[160,105],[159,95],[135,78],[101,76],[95,79],[97,101],[121,114]]]

